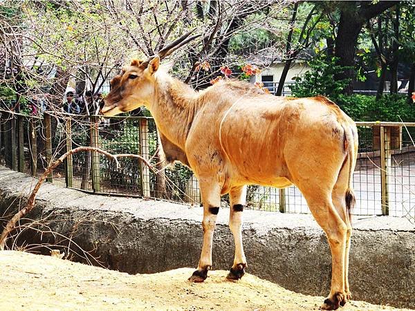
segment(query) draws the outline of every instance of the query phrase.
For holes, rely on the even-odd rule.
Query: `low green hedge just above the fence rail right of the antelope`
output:
[[[383,95],[379,100],[370,95],[338,95],[331,100],[355,121],[415,121],[415,107],[407,104],[405,95]]]

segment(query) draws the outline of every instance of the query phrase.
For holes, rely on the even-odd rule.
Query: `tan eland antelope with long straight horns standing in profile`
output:
[[[198,178],[203,247],[190,281],[204,281],[212,267],[221,195],[230,195],[229,225],[235,243],[228,279],[240,279],[247,267],[241,235],[246,185],[295,185],[331,249],[331,291],[321,308],[339,308],[350,298],[347,274],[356,124],[322,96],[275,97],[235,80],[194,91],[160,68],[160,59],[190,41],[189,35],[146,61],[133,59],[124,67],[111,80],[102,113],[116,115],[145,105],[156,122],[165,160],[182,162]]]

